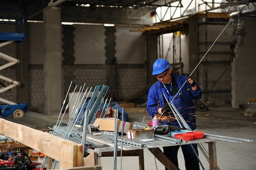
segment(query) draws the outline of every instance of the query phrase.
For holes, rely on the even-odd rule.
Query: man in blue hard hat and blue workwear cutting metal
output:
[[[199,100],[202,97],[202,91],[195,83],[192,77],[185,77],[172,74],[170,69],[171,65],[166,59],[157,59],[153,65],[153,75],[158,79],[154,85],[151,86],[148,92],[147,112],[150,117],[170,112],[169,105],[167,104],[163,93],[165,94],[168,102],[174,106],[181,113],[184,120],[188,123],[192,130],[196,129],[196,116],[193,100]],[[188,81],[187,81],[188,79]],[[185,83],[185,82],[188,83]],[[185,83],[185,84],[184,84]],[[179,94],[178,90],[184,84]],[[176,95],[177,94],[177,95]],[[175,98],[174,98],[175,97]],[[173,120],[169,125],[179,126],[177,120]],[[193,144],[195,151],[198,155],[197,144]],[[163,147],[163,153],[178,167],[178,149],[180,145]],[[185,159],[185,167],[187,170],[199,170],[199,161],[196,158],[192,147],[181,145],[181,149]],[[166,168],[165,168],[166,169]]]

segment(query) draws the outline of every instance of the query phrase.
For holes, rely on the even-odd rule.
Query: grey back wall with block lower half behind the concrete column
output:
[[[29,61],[29,108],[33,111],[43,112],[44,105],[44,47],[42,45],[43,23],[28,23],[28,61]],[[62,98],[67,93],[64,88],[64,69],[72,68],[74,85],[86,86],[106,84],[105,66],[105,27],[103,25],[74,25],[74,65],[63,65],[61,75]],[[118,86],[120,100],[146,87],[145,70],[145,37],[141,32],[130,32],[138,29],[132,26],[116,26],[116,58],[118,68]],[[65,35],[63,35],[65,36]],[[63,42],[62,42],[63,43]],[[1,47],[3,49],[3,47]],[[4,53],[15,57],[16,46],[8,45]],[[0,49],[1,51],[1,49]],[[5,62],[0,60],[1,64]],[[16,69],[2,71],[1,74],[15,80]],[[54,73],[53,73],[54,74]],[[68,82],[70,83],[70,82]],[[0,94],[7,100],[16,100],[15,89],[11,93]],[[145,96],[142,96],[145,99]]]

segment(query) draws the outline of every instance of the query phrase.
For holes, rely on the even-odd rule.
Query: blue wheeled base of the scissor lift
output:
[[[15,105],[0,105],[0,109],[3,117],[23,117],[24,113],[29,110],[26,102]]]

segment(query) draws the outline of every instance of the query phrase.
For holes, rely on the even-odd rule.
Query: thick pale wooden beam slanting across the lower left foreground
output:
[[[75,167],[77,155],[82,155],[77,153],[82,152],[77,150],[80,144],[4,119],[0,119],[0,133],[56,159],[63,168]]]

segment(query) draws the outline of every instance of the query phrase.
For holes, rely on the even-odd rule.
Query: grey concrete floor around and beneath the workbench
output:
[[[141,122],[145,115],[144,122],[151,119],[147,116],[146,108],[125,108],[129,115],[129,122]],[[232,143],[218,141],[217,161],[218,166],[222,170],[256,170],[256,117],[248,117],[244,115],[244,109],[232,109],[231,107],[215,107],[209,111],[197,111],[197,130],[218,134],[234,136],[238,138],[253,139],[253,142]],[[206,116],[206,115],[209,116]],[[203,119],[207,118],[207,119]],[[207,144],[203,144],[208,148]],[[162,149],[162,148],[161,148]],[[209,169],[206,158],[199,151],[199,158],[203,163],[204,169]],[[164,166],[156,160],[153,154],[147,149],[144,150],[145,170],[164,170]],[[178,152],[179,168],[185,170],[184,158],[181,149]],[[113,169],[113,158],[103,157],[101,159],[103,170]],[[120,167],[120,158],[117,159],[117,167]],[[122,169],[138,169],[138,157],[123,157]],[[203,169],[200,167],[200,169]]]

